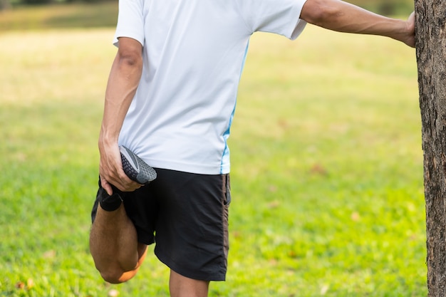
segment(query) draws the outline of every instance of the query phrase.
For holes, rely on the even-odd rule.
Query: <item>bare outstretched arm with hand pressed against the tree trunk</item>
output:
[[[333,31],[387,36],[415,47],[415,14],[403,21],[341,0],[307,0],[301,19]]]

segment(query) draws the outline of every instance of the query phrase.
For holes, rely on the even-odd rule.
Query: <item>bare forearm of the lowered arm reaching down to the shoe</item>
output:
[[[129,60],[119,53],[113,61],[105,90],[100,142],[108,144],[118,142],[125,115],[140,82],[141,70],[142,61]]]

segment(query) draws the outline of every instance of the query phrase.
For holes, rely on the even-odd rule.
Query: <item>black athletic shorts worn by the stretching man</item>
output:
[[[157,179],[125,192],[138,241],[173,271],[202,281],[224,281],[227,271],[229,174],[192,174],[156,169]],[[98,208],[100,187],[91,212]]]

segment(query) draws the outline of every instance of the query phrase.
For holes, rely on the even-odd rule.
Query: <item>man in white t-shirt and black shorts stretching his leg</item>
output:
[[[251,34],[294,39],[310,23],[413,47],[415,16],[389,19],[338,0],[120,0],[119,9],[91,254],[105,281],[120,283],[156,241],[171,296],[207,296],[209,281],[226,275],[227,138]],[[131,181],[118,145],[157,179]]]

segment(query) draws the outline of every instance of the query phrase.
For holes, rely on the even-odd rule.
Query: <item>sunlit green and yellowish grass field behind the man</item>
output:
[[[155,256],[110,286],[88,252],[112,37],[0,33],[2,297],[168,296]],[[413,49],[254,35],[230,146],[229,272],[210,296],[427,295]]]

